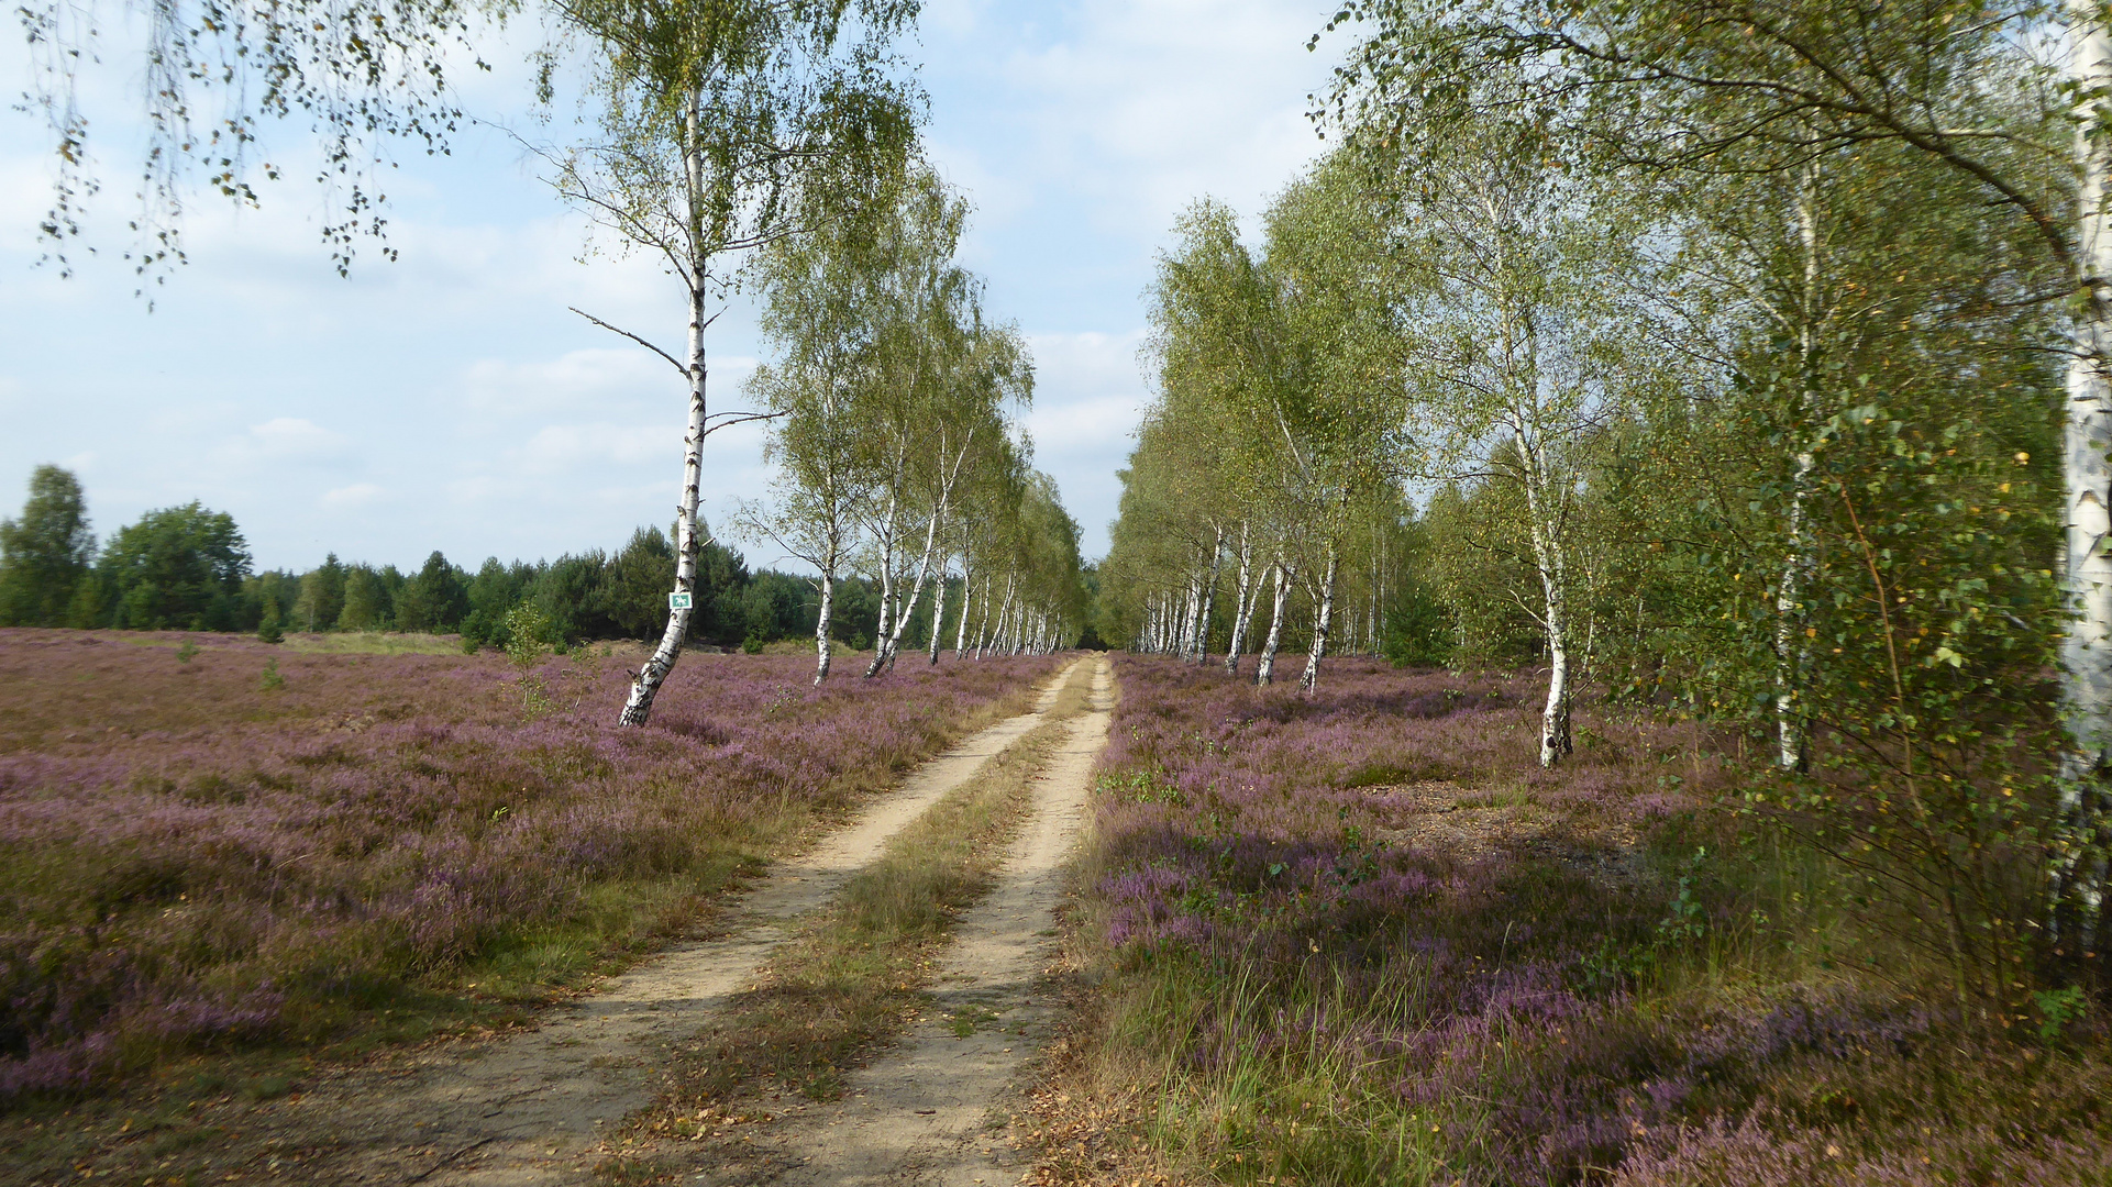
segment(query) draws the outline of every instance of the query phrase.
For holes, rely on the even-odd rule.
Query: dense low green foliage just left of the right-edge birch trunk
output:
[[[1970,410],[1907,420],[1884,395],[1816,444],[1799,691],[1814,760],[1757,781],[1749,807],[1863,874],[1873,910],[1905,912],[1958,995],[2000,1018],[2025,980],[2059,803],[2057,490]],[[1774,610],[1747,560],[1717,558],[1732,570],[1721,615],[1761,655]],[[1757,712],[1766,693],[1749,689]]]

